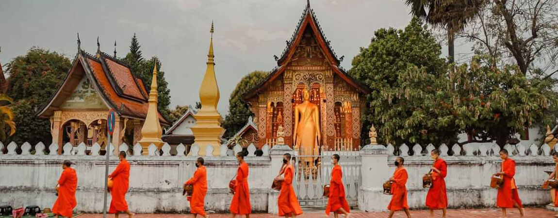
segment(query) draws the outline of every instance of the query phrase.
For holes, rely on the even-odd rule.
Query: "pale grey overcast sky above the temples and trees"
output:
[[[77,32],[89,53],[97,51],[99,36],[102,51],[113,54],[116,40],[117,55],[124,56],[136,33],[143,56],[162,61],[172,108],[195,105],[213,20],[218,109],[225,115],[229,95],[244,75],[276,66],[273,55],[281,55],[305,6],[305,0],[0,0],[0,62],[25,55],[32,46],[73,59]],[[311,7],[335,52],[345,55],[345,69],[375,30],[403,28],[411,20],[403,0],[311,0]],[[457,47],[456,54],[468,50]]]

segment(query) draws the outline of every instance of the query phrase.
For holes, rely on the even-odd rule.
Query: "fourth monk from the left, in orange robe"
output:
[[[248,188],[248,163],[244,161],[247,153],[238,152],[237,161],[240,164],[237,169],[237,183],[234,186],[233,201],[230,202],[230,213],[233,218],[237,215],[250,217],[252,205],[250,205],[250,189]]]

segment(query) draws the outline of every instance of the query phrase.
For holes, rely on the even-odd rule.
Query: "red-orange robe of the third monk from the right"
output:
[[[448,207],[448,195],[446,194],[446,175],[448,175],[448,164],[444,159],[438,158],[434,167],[440,171],[432,171],[432,186],[426,195],[426,206],[432,210]]]

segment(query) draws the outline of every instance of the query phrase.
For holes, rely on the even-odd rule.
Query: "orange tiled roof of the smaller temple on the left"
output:
[[[66,98],[74,91],[81,77],[87,76],[94,89],[108,108],[114,109],[121,117],[144,120],[147,115],[148,93],[140,79],[136,79],[130,67],[114,57],[97,51],[93,56],[78,46],[72,67],[59,85],[49,103],[37,115],[50,117],[59,110]],[[162,125],[169,122],[158,114]]]

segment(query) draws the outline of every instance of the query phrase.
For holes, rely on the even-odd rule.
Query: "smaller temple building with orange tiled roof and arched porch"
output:
[[[99,48],[97,54],[90,55],[81,50],[78,38],[78,54],[70,71],[38,115],[50,120],[52,143],[99,143],[104,149],[110,109],[117,113],[112,143],[119,146],[136,144],[142,138],[147,108],[145,86],[128,65],[116,59],[116,50],[114,56]],[[157,115],[161,125],[169,126],[161,114]]]

